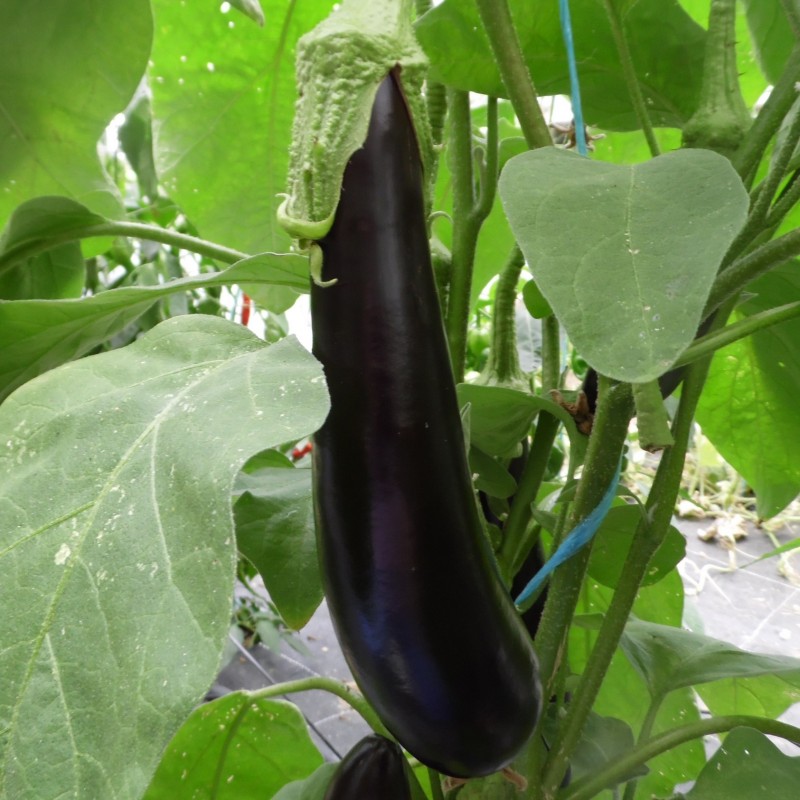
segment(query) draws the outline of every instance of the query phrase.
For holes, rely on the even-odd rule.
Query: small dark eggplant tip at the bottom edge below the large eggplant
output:
[[[395,742],[365,736],[339,763],[323,800],[411,800],[405,770]]]

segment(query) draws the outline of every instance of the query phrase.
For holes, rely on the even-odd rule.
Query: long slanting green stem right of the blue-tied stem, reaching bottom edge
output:
[[[714,321],[716,327],[725,324],[730,308],[722,309]],[[546,798],[555,792],[566,771],[583,727],[597,699],[608,666],[625,629],[631,608],[639,592],[647,565],[669,529],[675,498],[680,489],[683,462],[692,430],[694,412],[705,383],[710,358],[697,361],[686,370],[681,388],[678,411],[672,424],[675,444],[661,456],[653,486],[647,497],[647,515],[639,523],[630,551],[625,559],[625,569],[614,590],[614,595],[603,617],[595,645],[561,725],[558,737],[545,764],[542,784]],[[549,792],[549,794],[548,794]]]

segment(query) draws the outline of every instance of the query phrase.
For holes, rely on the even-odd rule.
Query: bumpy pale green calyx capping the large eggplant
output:
[[[402,76],[423,167],[430,163],[426,60],[412,20],[410,0],[344,0],[298,42],[289,193],[278,222],[301,247],[330,230],[345,166],[364,143],[378,86],[394,69]]]

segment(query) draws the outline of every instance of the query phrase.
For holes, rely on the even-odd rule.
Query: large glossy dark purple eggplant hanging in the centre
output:
[[[424,764],[506,766],[541,708],[538,665],[472,491],[428,252],[414,129],[393,75],[351,158],[313,286],[331,410],[314,437],[325,593],[361,691]]]

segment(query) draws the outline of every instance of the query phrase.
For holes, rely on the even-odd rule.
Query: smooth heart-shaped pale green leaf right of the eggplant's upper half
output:
[[[601,374],[638,383],[694,338],[749,202],[730,162],[707,150],[621,166],[541,149],[511,159],[499,191],[576,349]]]

